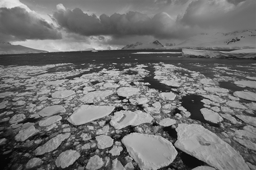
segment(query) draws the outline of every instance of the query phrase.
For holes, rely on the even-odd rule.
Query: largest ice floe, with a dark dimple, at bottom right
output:
[[[179,124],[175,147],[217,169],[249,170],[244,158],[215,133],[197,124]]]

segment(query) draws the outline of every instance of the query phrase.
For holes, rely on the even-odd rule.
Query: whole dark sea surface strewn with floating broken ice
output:
[[[2,169],[256,169],[255,60],[78,53],[1,56]]]

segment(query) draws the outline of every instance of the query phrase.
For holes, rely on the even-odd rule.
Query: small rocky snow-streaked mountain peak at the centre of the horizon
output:
[[[126,45],[121,50],[152,50],[160,47],[163,47],[163,45],[158,40],[154,40],[147,43],[136,42],[135,44]]]

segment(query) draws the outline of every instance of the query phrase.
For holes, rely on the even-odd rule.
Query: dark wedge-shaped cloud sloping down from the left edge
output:
[[[1,41],[61,39],[61,33],[24,8],[1,8]]]

